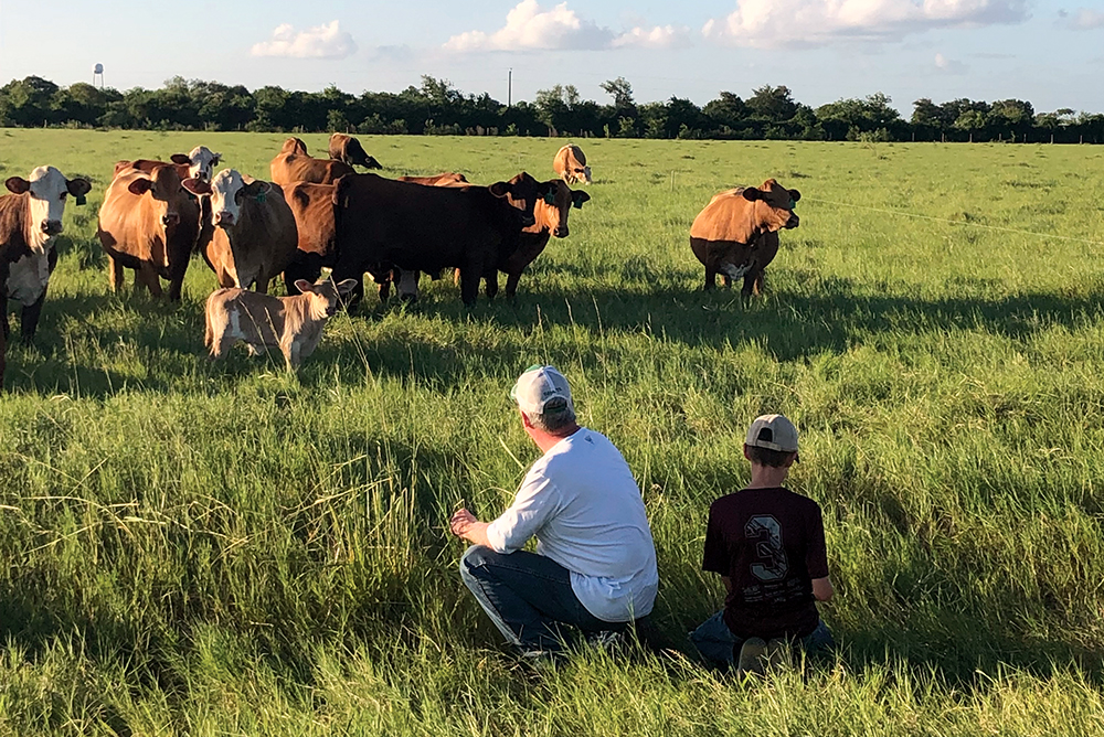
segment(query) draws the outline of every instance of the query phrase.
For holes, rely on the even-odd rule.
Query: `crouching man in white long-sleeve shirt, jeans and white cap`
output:
[[[651,611],[659,585],[640,490],[617,448],[576,424],[559,371],[530,367],[510,396],[544,455],[493,522],[453,515],[453,534],[473,543],[460,578],[522,655],[560,653],[571,628],[616,641]],[[521,549],[530,537],[535,554]]]

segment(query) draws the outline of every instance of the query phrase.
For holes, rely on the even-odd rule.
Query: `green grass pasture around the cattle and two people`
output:
[[[179,306],[116,296],[95,237],[117,159],[205,143],[267,179],[282,139],[0,130],[2,178],[94,179],[0,395],[0,734],[1104,734],[1104,149],[588,141],[593,199],[516,305],[370,298],[296,378],[206,362],[202,260]],[[562,143],[362,140],[484,183]],[[767,177],[804,197],[766,297],[703,293],[690,223]],[[445,524],[537,458],[507,391],[538,361],[633,468],[680,645],[721,602],[705,513],[747,423],[795,419],[834,664],[514,664]]]

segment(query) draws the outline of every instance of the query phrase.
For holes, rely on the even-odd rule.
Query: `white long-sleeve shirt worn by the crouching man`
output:
[[[537,552],[571,572],[571,588],[596,618],[626,622],[651,611],[656,546],[640,489],[620,451],[580,428],[540,458],[487,540],[498,553]]]

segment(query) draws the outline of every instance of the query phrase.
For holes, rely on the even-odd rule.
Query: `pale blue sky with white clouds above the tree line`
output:
[[[42,10],[49,7],[49,13]],[[168,8],[168,9],[167,9]],[[532,99],[553,84],[637,102],[787,85],[820,105],[882,92],[1104,111],[1102,0],[0,0],[0,84],[30,74],[157,87],[173,76],[256,88],[399,90],[422,74]]]

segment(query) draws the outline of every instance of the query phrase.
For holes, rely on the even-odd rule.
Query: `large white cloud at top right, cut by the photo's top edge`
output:
[[[820,46],[1026,18],[1027,0],[736,0],[736,9],[709,20],[702,34],[761,49]]]

